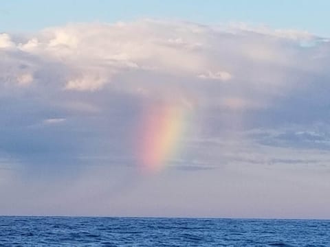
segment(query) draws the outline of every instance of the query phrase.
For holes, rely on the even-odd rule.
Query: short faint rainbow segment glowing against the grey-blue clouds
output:
[[[142,115],[137,143],[139,164],[143,171],[158,172],[181,150],[189,110],[175,104],[157,104],[146,108]]]

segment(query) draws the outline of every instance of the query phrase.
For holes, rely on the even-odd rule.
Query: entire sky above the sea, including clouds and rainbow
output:
[[[330,219],[329,1],[3,1],[0,215]]]

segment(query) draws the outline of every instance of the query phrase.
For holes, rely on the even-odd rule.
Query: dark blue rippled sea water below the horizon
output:
[[[0,217],[0,246],[330,246],[330,221]]]

